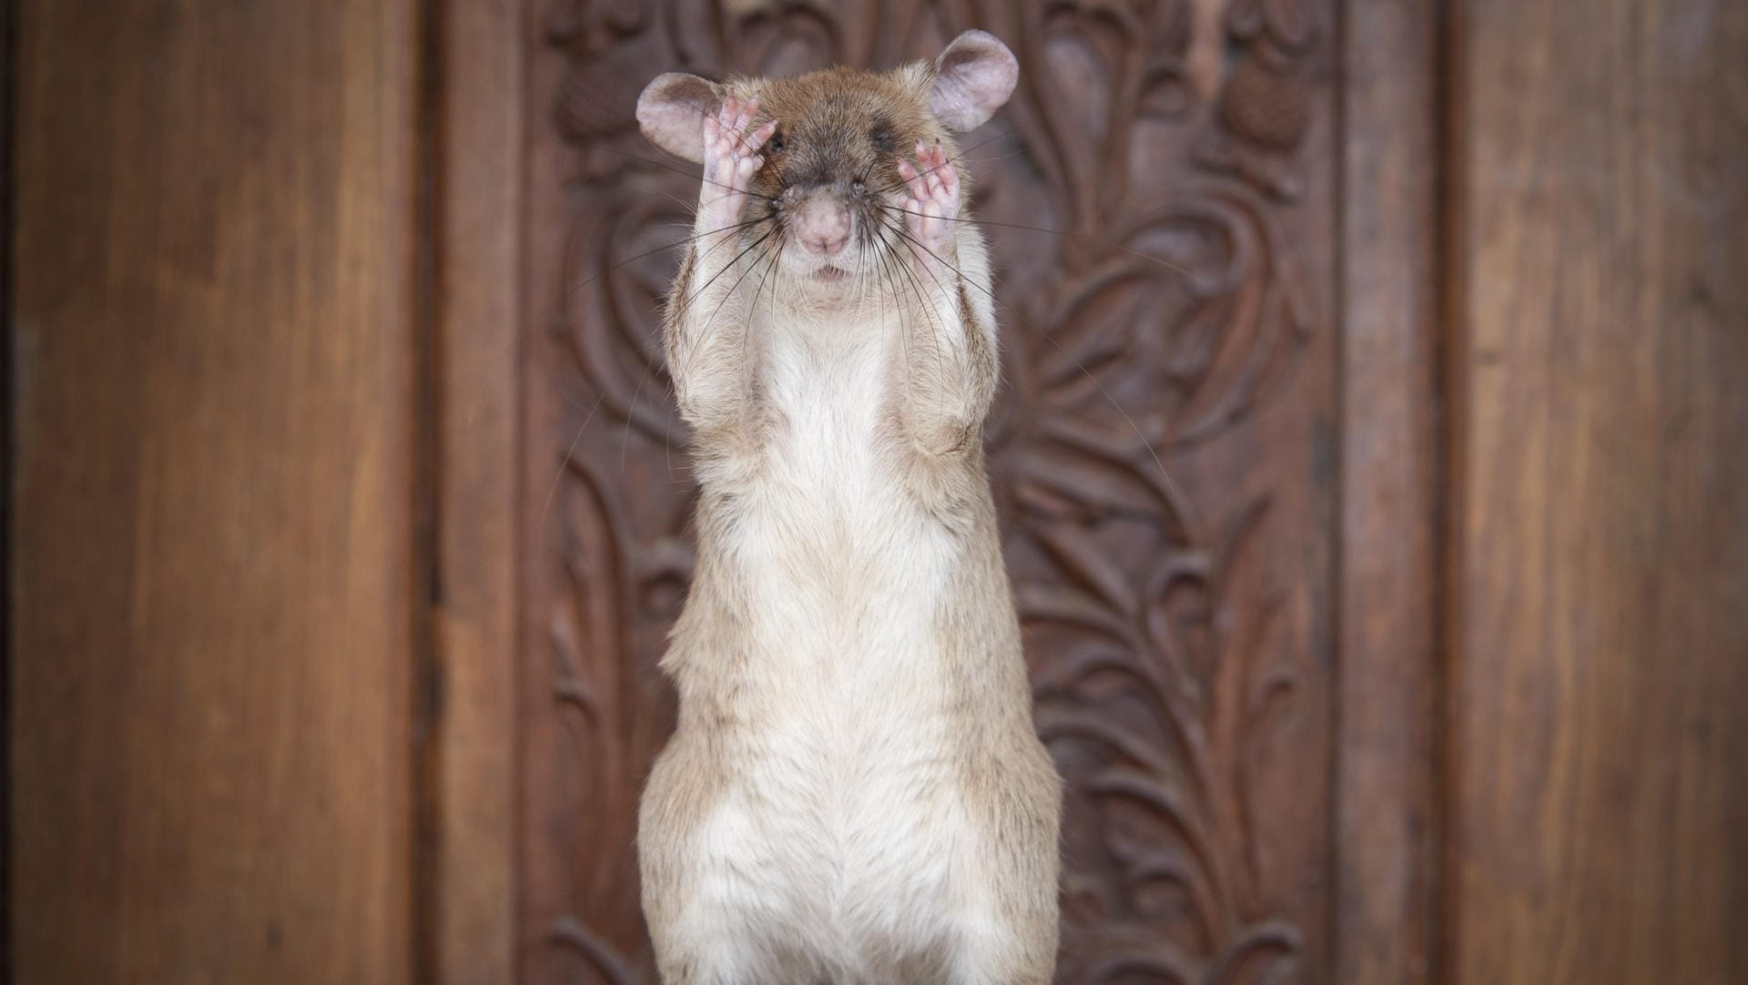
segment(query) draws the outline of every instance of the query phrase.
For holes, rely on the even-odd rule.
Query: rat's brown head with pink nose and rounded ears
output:
[[[904,215],[895,210],[907,192],[898,164],[914,161],[919,143],[940,143],[956,159],[953,134],[988,121],[1017,79],[1007,45],[965,31],[933,63],[891,72],[827,68],[722,84],[671,72],[643,91],[638,122],[662,150],[703,161],[703,119],[731,96],[757,96],[748,133],[767,121],[776,131],[760,148],[741,238],[769,234],[781,281],[834,293],[857,276],[879,276],[883,262],[895,262],[883,251],[904,255]]]

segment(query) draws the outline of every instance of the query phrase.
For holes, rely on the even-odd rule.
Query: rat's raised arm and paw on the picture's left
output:
[[[771,121],[748,133],[757,108],[757,98],[729,98],[715,117],[703,121],[704,182],[697,218],[668,300],[668,372],[680,416],[699,431],[748,417],[752,372],[739,306],[745,292],[736,288],[748,276],[767,276],[760,260],[771,245],[771,225],[748,224],[743,215],[746,189],[764,164],[759,148],[776,129]]]

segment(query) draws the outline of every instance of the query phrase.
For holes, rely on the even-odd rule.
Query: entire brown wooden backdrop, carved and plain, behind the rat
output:
[[[631,107],[968,26],[1059,980],[1748,982],[1748,7],[0,23],[14,982],[652,982],[696,180]]]

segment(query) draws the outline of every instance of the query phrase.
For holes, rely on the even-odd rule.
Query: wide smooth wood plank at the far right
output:
[[[1458,23],[1447,982],[1748,982],[1748,7]]]

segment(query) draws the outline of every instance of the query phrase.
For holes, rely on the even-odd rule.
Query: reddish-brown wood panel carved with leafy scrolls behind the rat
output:
[[[636,94],[981,26],[1023,66],[963,148],[1002,299],[991,470],[1068,779],[1059,980],[1327,982],[1332,0],[530,2],[524,980],[654,982],[633,833],[694,498],[657,306],[697,182]]]

